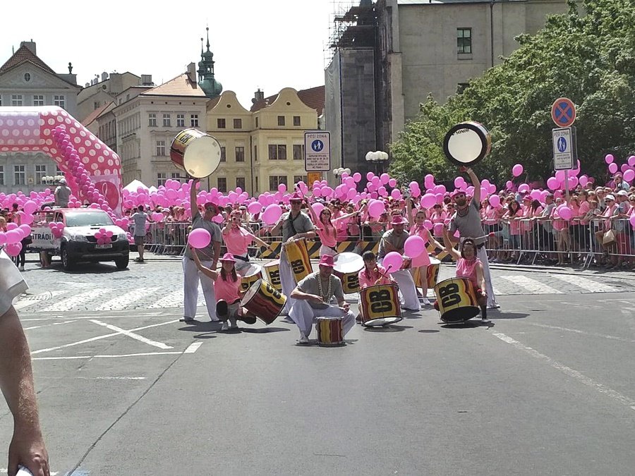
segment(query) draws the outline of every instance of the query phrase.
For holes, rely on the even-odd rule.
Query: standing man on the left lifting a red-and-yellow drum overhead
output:
[[[222,241],[222,233],[217,224],[212,219],[218,214],[218,207],[212,202],[204,205],[205,212],[201,215],[198,211],[196,203],[196,185],[200,179],[195,178],[190,188],[190,207],[192,212],[192,229],[205,228],[212,240],[210,245],[205,248],[191,250],[186,248],[183,255],[183,321],[193,322],[196,315],[196,303],[198,302],[198,283],[200,282],[203,295],[205,296],[205,305],[207,314],[212,321],[218,321],[216,315],[216,295],[214,294],[214,286],[212,280],[207,276],[201,276],[198,267],[194,262],[193,254],[196,253],[200,262],[207,268],[216,269],[218,258],[220,255],[220,245]]]

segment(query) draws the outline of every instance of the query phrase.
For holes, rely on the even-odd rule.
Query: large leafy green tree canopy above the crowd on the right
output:
[[[516,51],[446,104],[428,97],[390,146],[392,175],[401,183],[423,182],[426,173],[437,181],[453,178],[444,135],[456,123],[478,121],[492,135],[492,152],[477,166],[480,176],[500,185],[520,163],[524,180],[546,180],[552,175],[551,106],[569,97],[577,109],[582,173],[605,181],[605,154],[622,164],[635,153],[635,2],[583,0],[580,7],[569,1],[568,13],[549,16],[536,35],[517,37]]]

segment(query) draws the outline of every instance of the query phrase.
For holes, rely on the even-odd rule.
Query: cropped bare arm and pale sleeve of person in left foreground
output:
[[[40,429],[29,346],[11,304],[27,288],[18,269],[0,249],[0,389],[13,415],[7,471],[15,475],[18,465],[23,465],[34,475],[49,476],[49,456]]]

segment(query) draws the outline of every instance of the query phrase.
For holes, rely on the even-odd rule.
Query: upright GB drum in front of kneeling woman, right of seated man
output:
[[[395,284],[368,286],[359,293],[363,326],[385,326],[401,321],[399,287]]]

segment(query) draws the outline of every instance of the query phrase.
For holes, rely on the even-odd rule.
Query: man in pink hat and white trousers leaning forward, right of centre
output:
[[[384,257],[387,253],[396,251],[399,254],[404,254],[404,244],[410,234],[404,230],[404,226],[408,224],[408,221],[401,215],[394,215],[391,221],[392,229],[383,234],[380,241],[379,252],[377,253],[377,262],[382,264]],[[410,311],[421,310],[421,303],[417,297],[417,290],[412,279],[412,274],[408,269],[400,269],[399,271],[388,270],[397,284],[399,285],[399,292],[404,298],[401,307]]]

